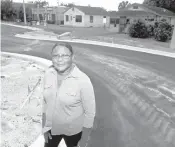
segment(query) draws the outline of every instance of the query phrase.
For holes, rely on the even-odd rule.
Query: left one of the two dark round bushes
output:
[[[134,38],[147,38],[149,33],[145,23],[138,20],[129,27],[129,35]]]

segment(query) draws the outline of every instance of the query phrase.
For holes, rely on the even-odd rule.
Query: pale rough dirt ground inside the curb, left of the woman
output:
[[[27,147],[41,134],[43,74],[34,62],[1,56],[2,147]]]

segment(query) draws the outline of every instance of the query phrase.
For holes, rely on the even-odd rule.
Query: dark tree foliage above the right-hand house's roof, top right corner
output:
[[[144,0],[143,4],[161,7],[175,12],[175,0]]]

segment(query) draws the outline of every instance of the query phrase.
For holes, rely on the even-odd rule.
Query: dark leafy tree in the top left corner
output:
[[[15,10],[12,6],[12,0],[1,1],[1,19],[13,19],[16,16]]]

